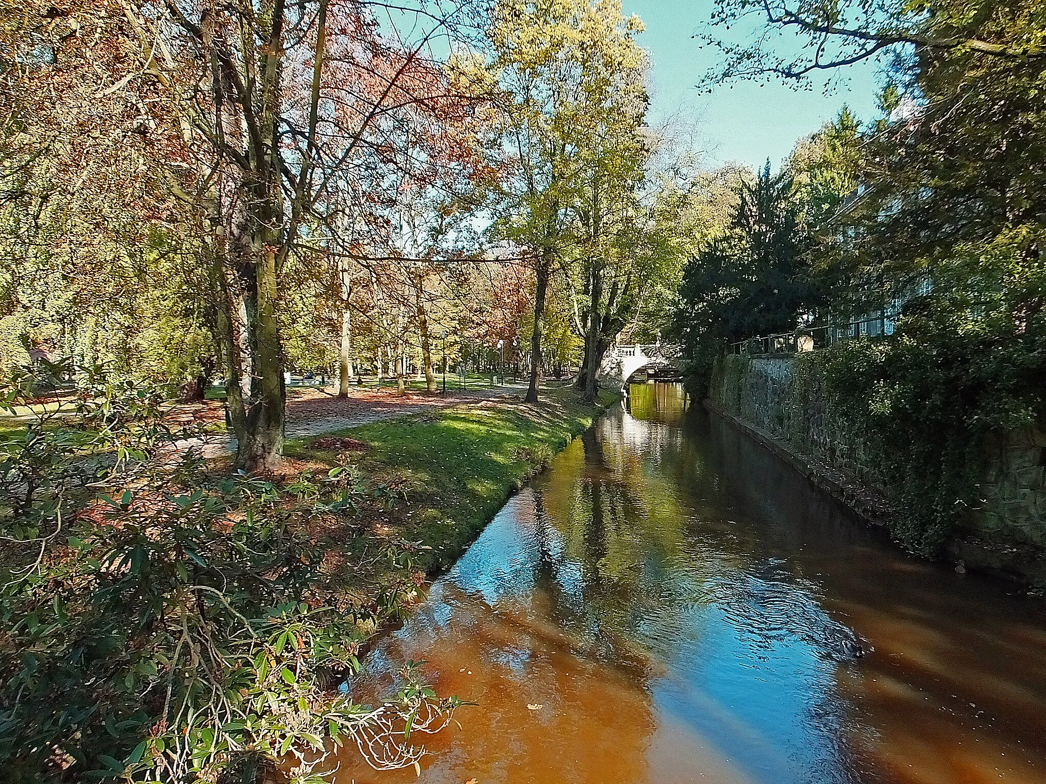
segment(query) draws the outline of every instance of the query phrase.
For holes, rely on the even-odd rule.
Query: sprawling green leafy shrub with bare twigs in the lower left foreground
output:
[[[413,668],[396,699],[336,687],[416,596],[409,552],[365,605],[327,579],[326,531],[372,492],[348,466],[291,481],[208,474],[162,396],[107,384],[0,434],[0,758],[12,782],[215,781],[279,761],[305,779],[346,738],[416,763],[441,728]],[[0,406],[24,413],[19,372]],[[177,444],[176,444],[177,442]],[[180,445],[179,445],[180,444]],[[373,742],[380,739],[381,742]]]

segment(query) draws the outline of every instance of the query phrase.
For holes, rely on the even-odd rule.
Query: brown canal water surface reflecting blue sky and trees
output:
[[[1039,604],[899,554],[677,386],[630,391],[368,659],[478,704],[423,782],[1046,782]]]

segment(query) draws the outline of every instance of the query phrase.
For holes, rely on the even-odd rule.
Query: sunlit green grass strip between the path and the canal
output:
[[[548,390],[538,406],[459,406],[335,435],[366,443],[369,449],[357,455],[363,472],[405,491],[406,503],[383,511],[382,522],[431,548],[422,550],[417,562],[433,574],[457,560],[509,494],[616,399],[604,392],[593,406],[571,390]],[[288,456],[335,464],[337,456],[316,449],[316,440],[289,442]]]

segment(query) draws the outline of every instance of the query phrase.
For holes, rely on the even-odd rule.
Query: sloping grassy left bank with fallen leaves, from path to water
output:
[[[383,543],[403,547],[411,568],[432,577],[618,399],[604,391],[586,403],[572,389],[543,390],[537,405],[504,395],[294,439],[287,456],[305,470],[348,466],[370,488],[369,503],[349,518],[351,530],[332,537],[344,549],[338,582],[359,583],[361,559]]]

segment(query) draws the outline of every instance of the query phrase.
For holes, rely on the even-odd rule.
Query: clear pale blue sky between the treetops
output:
[[[695,85],[715,64],[715,52],[690,37],[708,20],[712,0],[623,0],[626,14],[638,14],[646,31],[639,43],[651,53],[651,120],[682,111],[697,120],[709,164],[731,161],[774,168],[796,140],[835,117],[843,105],[867,121],[876,116],[876,64],[846,69],[844,83],[829,95],[775,82],[770,86],[735,83],[711,95]]]

